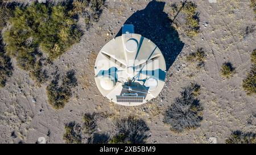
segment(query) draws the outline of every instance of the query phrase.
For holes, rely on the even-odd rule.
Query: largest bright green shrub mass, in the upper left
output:
[[[39,49],[53,60],[77,43],[81,36],[76,20],[69,15],[67,7],[60,4],[32,3],[16,7],[10,23],[11,28],[3,35],[7,54],[15,57],[18,66],[34,75],[39,83],[45,81],[40,77],[45,72],[39,62],[42,60]]]

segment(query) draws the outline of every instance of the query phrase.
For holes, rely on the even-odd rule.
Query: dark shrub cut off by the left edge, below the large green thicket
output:
[[[3,49],[2,39],[0,37],[0,87],[6,85],[7,79],[13,74],[13,66],[11,59],[6,55]]]

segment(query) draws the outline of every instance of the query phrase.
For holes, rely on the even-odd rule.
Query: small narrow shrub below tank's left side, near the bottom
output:
[[[95,130],[96,130],[96,127],[97,127],[97,124],[96,124],[96,119],[95,119],[95,113],[93,114],[89,114],[89,113],[86,113],[83,117],[83,121],[84,121],[84,132],[85,133],[88,133],[88,134],[92,134]]]

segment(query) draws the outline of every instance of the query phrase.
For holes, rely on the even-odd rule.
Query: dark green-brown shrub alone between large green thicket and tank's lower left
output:
[[[62,82],[59,82],[60,75],[57,74],[55,79],[47,86],[48,102],[55,109],[60,109],[65,106],[69,98],[72,97],[72,88],[77,85],[75,72],[69,70],[64,76]]]

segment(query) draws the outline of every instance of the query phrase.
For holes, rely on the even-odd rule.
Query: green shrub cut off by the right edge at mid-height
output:
[[[256,49],[251,53],[251,70],[247,73],[247,77],[243,79],[243,89],[247,94],[256,94]]]

